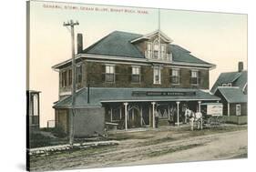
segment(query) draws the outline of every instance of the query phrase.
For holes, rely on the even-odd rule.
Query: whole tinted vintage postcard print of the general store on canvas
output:
[[[27,170],[246,158],[247,15],[26,4]]]

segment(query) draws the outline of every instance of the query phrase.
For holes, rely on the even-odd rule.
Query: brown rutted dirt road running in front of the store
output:
[[[113,167],[247,157],[247,127],[113,134],[118,146],[32,157],[31,170]]]

